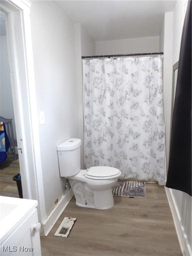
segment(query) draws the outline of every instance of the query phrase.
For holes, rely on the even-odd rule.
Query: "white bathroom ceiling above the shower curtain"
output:
[[[54,1],[95,41],[158,36],[176,1]]]

